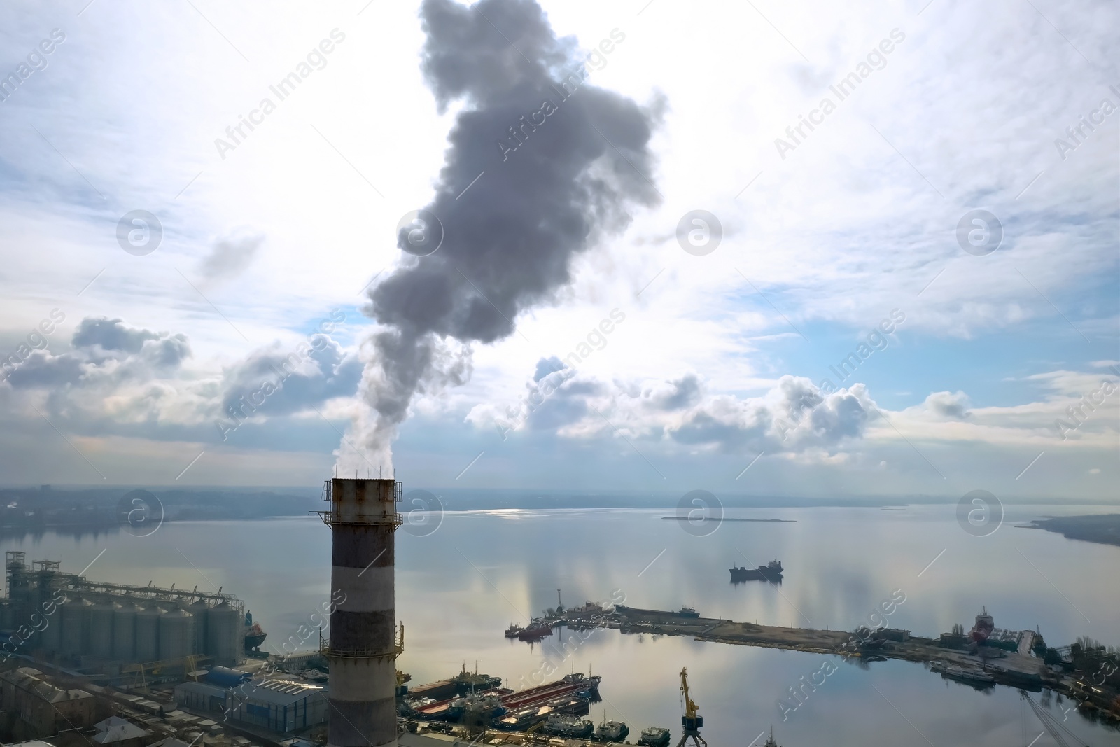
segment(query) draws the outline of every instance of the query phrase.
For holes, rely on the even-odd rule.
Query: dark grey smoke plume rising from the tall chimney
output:
[[[414,393],[466,381],[472,343],[511,335],[519,314],[556,299],[578,254],[659,198],[647,177],[663,104],[643,108],[584,82],[576,41],[558,39],[536,2],[424,0],[420,18],[439,109],[465,106],[427,206],[441,246],[405,256],[370,292],[368,312],[384,328],[363,381],[373,412],[355,430],[386,465]],[[532,116],[541,111],[551,111],[543,122]],[[512,128],[523,142],[511,152]]]

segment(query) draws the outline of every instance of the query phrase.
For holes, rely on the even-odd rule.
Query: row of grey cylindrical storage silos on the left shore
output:
[[[188,657],[234,666],[244,661],[244,605],[215,592],[100,583],[66,573],[52,560],[26,563],[6,553],[0,628],[4,650],[54,661],[138,664]],[[134,667],[133,667],[134,669]]]

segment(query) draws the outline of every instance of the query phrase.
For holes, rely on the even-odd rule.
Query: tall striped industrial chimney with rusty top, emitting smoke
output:
[[[330,717],[328,747],[396,745],[393,532],[401,484],[327,480],[330,511]]]

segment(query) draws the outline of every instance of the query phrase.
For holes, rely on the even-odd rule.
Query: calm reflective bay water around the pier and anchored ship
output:
[[[524,624],[554,606],[558,588],[564,605],[614,595],[638,607],[691,605],[706,617],[833,629],[866,623],[900,590],[906,601],[889,625],[917,635],[936,636],[953,623],[970,627],[986,606],[997,627],[1037,626],[1051,645],[1079,635],[1120,645],[1120,548],[1015,526],[1105,508],[1011,506],[986,538],[962,531],[954,508],[730,510],[730,516],[795,523],[725,522],[707,536],[663,521],[664,510],[448,513],[431,534],[398,533],[400,666],[422,683],[477,662],[479,672],[514,688],[549,672],[601,674],[604,700],[592,707],[594,720],[618,718],[632,730],[665,726],[674,735],[678,673],[688,666],[713,747],[749,745],[771,725],[784,747],[1026,745],[1042,726],[1017,691],[977,692],[921,664],[860,667],[834,656],[615,631],[586,639],[562,632],[533,646],[502,635],[511,620]],[[330,592],[330,534],[315,517],[168,523],[144,538],[46,533],[0,544],[27,551],[29,561],[60,560],[72,572],[105,550],[86,572],[95,580],[222,587],[245,600],[269,633],[270,650],[289,636],[299,642],[300,626],[310,625]],[[731,564],[773,558],[786,567],[781,586],[729,583]],[[783,722],[776,701],[825,659],[838,671]],[[1120,746],[1120,732],[1073,713],[1065,723],[1081,744]],[[1035,746],[1052,744],[1043,736]]]

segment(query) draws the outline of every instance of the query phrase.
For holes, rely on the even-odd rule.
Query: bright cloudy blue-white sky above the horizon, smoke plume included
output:
[[[8,3],[0,484],[1117,501],[1118,16]]]

